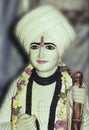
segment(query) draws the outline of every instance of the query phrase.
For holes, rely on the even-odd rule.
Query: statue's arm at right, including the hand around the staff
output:
[[[81,123],[81,130],[89,129],[89,102],[87,88],[83,84],[84,88],[73,88],[73,97],[75,102],[83,104],[83,116]]]

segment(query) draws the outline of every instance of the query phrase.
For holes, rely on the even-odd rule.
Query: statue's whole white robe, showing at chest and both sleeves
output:
[[[17,91],[16,82],[17,81],[15,81],[13,85],[11,85],[6,95],[6,98],[0,108],[0,130],[11,130],[11,102],[12,102],[12,97],[16,94],[16,91]],[[50,108],[50,104],[52,101],[52,96],[53,96],[54,88],[55,88],[54,84],[55,83],[53,83],[50,87],[49,85],[45,86],[45,88],[42,89],[42,86],[38,85],[39,86],[38,87],[35,82],[33,83],[32,114],[35,114],[37,116],[40,122],[41,130],[47,130],[49,108]],[[69,97],[71,98],[71,94]],[[25,113],[26,87],[25,87],[22,102],[23,102],[23,105],[22,105],[23,107],[21,108],[20,114]],[[86,108],[87,111],[84,115],[84,123],[82,126],[82,130],[89,130],[88,104],[86,107],[87,107]],[[71,114],[72,114],[72,109],[70,107],[70,123],[71,123]]]

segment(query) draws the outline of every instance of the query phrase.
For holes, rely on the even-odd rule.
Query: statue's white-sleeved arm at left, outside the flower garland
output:
[[[10,86],[0,108],[0,130],[11,130],[11,102],[17,90],[16,82],[17,80]]]

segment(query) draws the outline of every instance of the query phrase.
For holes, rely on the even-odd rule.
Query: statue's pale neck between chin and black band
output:
[[[53,75],[55,73],[55,71],[57,70],[57,68],[58,68],[58,66],[52,68],[49,71],[39,71],[39,70],[36,70],[36,73],[38,74],[38,76],[46,78],[46,77],[49,77],[49,76]]]

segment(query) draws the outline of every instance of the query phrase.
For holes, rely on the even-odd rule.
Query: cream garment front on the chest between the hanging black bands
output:
[[[41,130],[47,130],[49,110],[55,90],[55,83],[41,86],[33,83],[32,114],[35,114]]]

